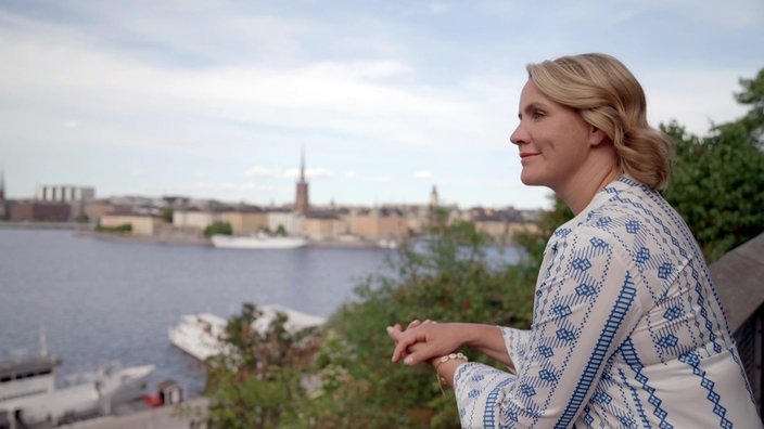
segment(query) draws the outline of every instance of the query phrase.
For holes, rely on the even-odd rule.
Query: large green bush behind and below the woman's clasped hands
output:
[[[358,299],[332,316],[318,354],[319,374],[332,376],[315,400],[322,410],[315,427],[458,427],[453,393],[440,394],[431,368],[391,364],[384,328],[413,318],[527,327],[536,272],[491,264],[488,239],[470,222],[433,222],[425,240],[405,243],[387,272],[356,288]]]

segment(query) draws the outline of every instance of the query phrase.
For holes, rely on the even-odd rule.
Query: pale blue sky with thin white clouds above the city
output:
[[[547,208],[520,182],[525,65],[603,52],[653,126],[746,113],[762,0],[0,0],[0,171],[98,197]]]

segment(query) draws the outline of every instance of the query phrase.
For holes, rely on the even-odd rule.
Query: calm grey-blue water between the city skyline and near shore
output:
[[[494,257],[517,260],[518,250],[509,249]],[[193,398],[204,369],[167,338],[183,314],[228,317],[253,302],[326,317],[393,252],[215,249],[0,229],[0,360],[39,353],[42,327],[49,352],[63,360],[62,375],[111,361],[154,364],[150,390],[173,378]]]

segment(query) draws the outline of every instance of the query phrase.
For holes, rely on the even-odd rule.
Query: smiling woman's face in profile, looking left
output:
[[[520,94],[520,125],[510,141],[520,150],[520,179],[560,192],[581,177],[594,133],[578,113],[548,99],[529,80]],[[586,174],[586,172],[583,172]]]

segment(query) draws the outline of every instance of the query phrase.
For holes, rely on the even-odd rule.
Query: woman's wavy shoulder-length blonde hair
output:
[[[651,190],[665,187],[673,141],[648,125],[645,91],[623,63],[589,53],[531,64],[527,73],[546,96],[608,134],[626,174]]]

